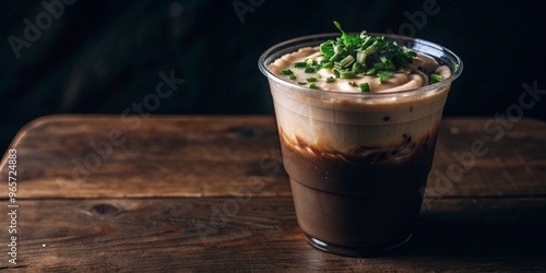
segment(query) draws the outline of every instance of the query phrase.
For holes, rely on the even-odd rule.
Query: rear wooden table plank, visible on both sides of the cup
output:
[[[271,116],[131,118],[49,116],[27,124],[11,145],[21,198],[226,197],[256,181],[265,185],[256,195],[290,195]],[[546,124],[491,121],[442,121],[428,197],[546,194]],[[479,156],[476,141],[485,146]]]

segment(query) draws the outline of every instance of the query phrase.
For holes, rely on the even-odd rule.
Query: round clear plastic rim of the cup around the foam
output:
[[[355,33],[351,33],[351,34],[355,34]],[[371,93],[371,92],[366,92],[366,93],[356,93],[356,92],[355,93],[349,93],[349,92],[340,92],[340,91],[314,90],[314,88],[310,88],[308,86],[302,86],[302,85],[297,85],[297,84],[290,83],[290,82],[282,79],[280,75],[273,74],[265,67],[265,61],[270,60],[271,59],[270,56],[272,54],[274,54],[276,50],[278,50],[280,48],[283,48],[285,46],[288,46],[288,45],[293,44],[293,46],[290,46],[288,48],[283,48],[282,49],[282,51],[285,51],[283,55],[285,55],[285,54],[294,52],[294,51],[297,50],[297,48],[302,47],[302,46],[297,47],[298,43],[299,44],[304,44],[304,41],[307,41],[307,43],[305,43],[306,46],[307,46],[307,44],[311,44],[312,41],[316,41],[317,43],[316,45],[318,46],[318,45],[320,45],[320,43],[325,41],[329,38],[336,38],[336,37],[340,36],[340,33],[320,33],[320,34],[305,35],[305,36],[300,36],[300,37],[287,39],[287,40],[284,40],[284,41],[281,41],[281,43],[277,43],[277,44],[271,46],[258,59],[258,68],[260,69],[260,71],[268,79],[273,80],[273,81],[275,81],[275,82],[277,82],[280,84],[289,85],[290,87],[293,87],[295,90],[298,90],[300,92],[305,92],[305,93],[312,92],[313,94],[328,94],[328,95],[331,95],[331,96],[347,96],[347,97],[355,97],[355,98],[372,98],[372,97],[377,97],[377,98],[382,97],[382,98],[384,98],[384,97],[392,97],[392,96],[396,96],[396,95],[411,95],[411,94],[427,92],[427,91],[431,91],[431,90],[441,90],[443,86],[446,86],[448,84],[451,84],[463,72],[463,61],[461,60],[461,58],[459,56],[456,56],[450,49],[448,49],[448,48],[446,48],[443,46],[440,46],[439,44],[436,44],[436,43],[432,43],[432,41],[429,41],[429,40],[426,40],[426,39],[414,38],[414,37],[404,36],[404,35],[395,35],[395,34],[368,33],[368,35],[371,35],[371,36],[384,36],[385,38],[389,38],[391,40],[404,41],[404,43],[410,41],[410,43],[414,43],[414,44],[417,44],[417,45],[426,46],[428,48],[434,48],[436,50],[440,50],[446,56],[448,56],[449,59],[452,59],[455,64],[459,64],[459,67],[458,67],[456,70],[454,70],[452,67],[450,67],[451,71],[452,71],[451,76],[448,78],[448,79],[446,79],[446,80],[442,80],[440,82],[437,82],[437,83],[434,83],[434,84],[428,84],[428,85],[425,85],[425,86],[422,86],[422,87],[418,87],[418,88],[413,88],[413,90],[404,90],[404,91],[396,91],[396,92],[384,92],[384,93]],[[288,49],[290,49],[292,51],[288,50]],[[415,49],[415,48],[411,48],[411,49],[414,50],[414,51],[417,51],[419,54],[424,54],[423,50],[418,50],[418,49]],[[283,56],[283,55],[281,55],[281,56]],[[427,54],[425,54],[425,55],[427,55]],[[436,60],[438,60],[438,57],[436,57],[436,56],[430,56],[430,55],[427,55],[427,56],[432,57]],[[276,60],[276,58],[274,60]],[[272,60],[272,61],[274,61],[274,60]]]

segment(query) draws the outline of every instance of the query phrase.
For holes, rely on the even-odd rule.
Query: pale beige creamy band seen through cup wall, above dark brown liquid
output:
[[[403,135],[414,140],[435,136],[449,88],[414,103],[370,105],[322,102],[272,85],[277,126],[289,143],[297,146],[299,138],[342,153],[359,146],[399,146],[404,144]]]

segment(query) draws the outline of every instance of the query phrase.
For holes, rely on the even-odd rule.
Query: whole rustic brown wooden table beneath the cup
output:
[[[414,238],[373,259],[305,241],[273,117],[49,116],[24,127],[10,149],[16,200],[8,200],[5,152],[0,269],[546,270],[539,121],[446,119]],[[16,264],[7,254],[10,204],[19,205]]]

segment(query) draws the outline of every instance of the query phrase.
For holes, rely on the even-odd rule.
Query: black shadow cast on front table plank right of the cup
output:
[[[400,256],[546,257],[546,200],[500,206],[422,213],[414,238]]]

